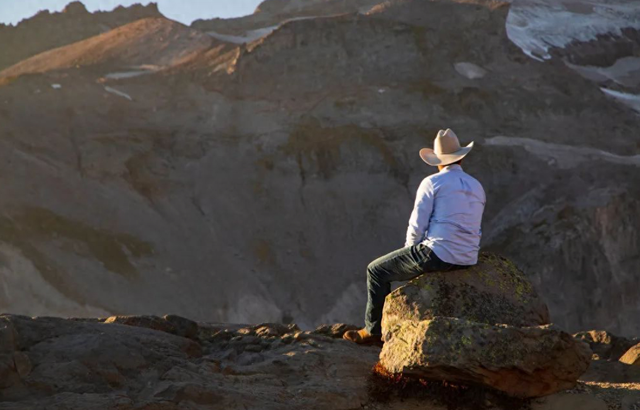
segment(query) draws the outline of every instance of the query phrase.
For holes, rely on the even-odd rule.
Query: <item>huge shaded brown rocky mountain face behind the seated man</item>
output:
[[[506,3],[304,4],[3,48],[1,310],[361,323],[450,127],[476,141],[483,248],[552,322],[640,333],[636,112],[527,56]],[[2,30],[46,38],[38,19],[65,16]]]

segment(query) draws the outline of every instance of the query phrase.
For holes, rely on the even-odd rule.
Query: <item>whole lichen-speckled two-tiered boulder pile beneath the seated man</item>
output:
[[[387,296],[380,364],[392,374],[467,383],[515,397],[575,386],[589,345],[549,324],[546,304],[511,261],[429,272]]]

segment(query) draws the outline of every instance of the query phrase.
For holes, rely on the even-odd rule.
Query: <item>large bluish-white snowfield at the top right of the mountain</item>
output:
[[[600,34],[640,29],[640,7],[628,0],[530,0],[513,2],[507,36],[530,57],[551,58],[551,47],[586,42]]]

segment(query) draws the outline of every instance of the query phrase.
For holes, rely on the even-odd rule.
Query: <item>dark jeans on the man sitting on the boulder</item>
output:
[[[428,246],[417,244],[398,249],[379,257],[367,267],[367,312],[365,328],[372,335],[382,333],[382,307],[391,292],[391,282],[406,281],[425,272],[448,271],[462,268],[444,262]]]

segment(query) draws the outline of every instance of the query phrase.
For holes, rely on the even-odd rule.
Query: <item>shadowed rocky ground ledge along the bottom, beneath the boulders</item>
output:
[[[196,323],[179,316],[2,315],[0,409],[564,410],[640,404],[639,366],[599,360],[602,366],[587,372],[597,381],[513,401],[491,389],[384,374],[379,348],[341,339],[350,328],[301,331],[293,324]],[[609,382],[616,377],[618,383]]]

